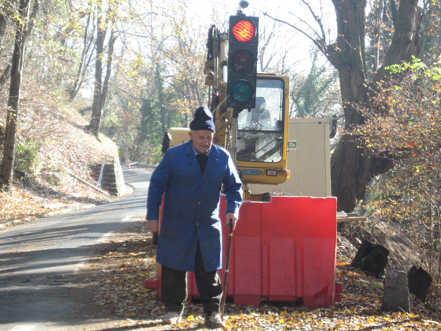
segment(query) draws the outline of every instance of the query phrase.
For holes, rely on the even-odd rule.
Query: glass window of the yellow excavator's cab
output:
[[[239,113],[237,153],[239,161],[280,162],[283,156],[284,82],[258,78],[256,108]]]

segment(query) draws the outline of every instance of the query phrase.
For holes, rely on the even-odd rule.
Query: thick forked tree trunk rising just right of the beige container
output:
[[[337,17],[337,40],[328,47],[331,63],[337,68],[345,114],[345,129],[363,124],[361,106],[372,111],[369,93],[385,84],[396,84],[400,77],[389,74],[385,67],[411,60],[421,49],[419,21],[422,9],[417,0],[401,0],[396,13],[395,32],[385,56],[384,64],[367,82],[365,59],[365,0],[333,0]],[[398,81],[392,82],[392,79]],[[391,169],[393,161],[387,155],[374,155],[372,150],[360,146],[358,137],[346,133],[331,157],[332,195],[337,197],[337,209],[352,211],[362,199],[369,181],[379,173]]]

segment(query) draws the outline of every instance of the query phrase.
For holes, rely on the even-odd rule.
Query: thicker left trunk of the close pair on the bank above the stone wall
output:
[[[102,30],[101,19],[97,18],[97,57],[95,59],[95,90],[93,92],[92,114],[90,115],[90,122],[88,130],[90,133],[98,137],[101,123],[101,87],[102,87],[102,73],[103,73],[103,45],[105,32]]]

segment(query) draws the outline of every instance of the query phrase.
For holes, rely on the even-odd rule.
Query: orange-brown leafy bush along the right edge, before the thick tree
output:
[[[374,98],[379,112],[366,117],[355,134],[360,147],[384,155],[395,167],[371,182],[362,209],[398,222],[423,251],[422,264],[434,277],[431,300],[441,296],[441,62],[389,67],[408,71],[401,86],[384,88]]]

